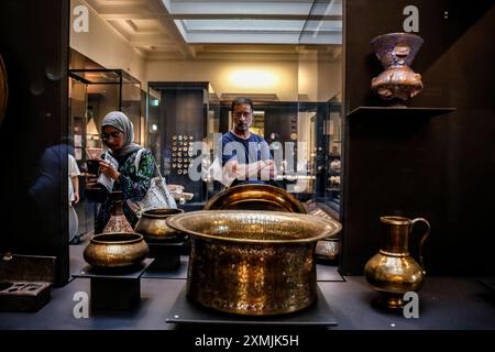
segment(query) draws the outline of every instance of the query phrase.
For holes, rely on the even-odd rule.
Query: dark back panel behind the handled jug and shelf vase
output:
[[[371,40],[403,32],[403,9],[419,9],[425,43],[411,68],[425,89],[407,102],[455,108],[408,113],[351,113],[385,106],[371,80],[383,68]],[[447,18],[446,12],[447,11]],[[431,223],[426,270],[442,275],[493,275],[495,74],[493,1],[349,0],[345,7],[345,150],[341,270],[363,274],[381,245],[380,217],[424,217]],[[419,241],[415,233],[411,243]]]

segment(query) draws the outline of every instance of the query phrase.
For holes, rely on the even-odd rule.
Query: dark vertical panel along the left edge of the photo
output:
[[[69,18],[69,1],[0,1],[9,77],[0,127],[0,253],[56,256],[57,284],[69,277],[67,150],[47,148],[67,136]],[[48,173],[40,178],[42,167]]]

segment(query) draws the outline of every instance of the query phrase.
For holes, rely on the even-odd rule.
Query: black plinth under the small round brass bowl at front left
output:
[[[141,276],[152,262],[147,258],[125,271],[86,265],[74,276],[90,279],[92,311],[131,310],[141,300]]]

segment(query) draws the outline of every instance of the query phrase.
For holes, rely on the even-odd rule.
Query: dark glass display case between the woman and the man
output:
[[[173,191],[176,200],[201,208],[208,199],[205,170],[210,163],[208,155],[198,156],[204,148],[212,148],[213,133],[219,130],[218,97],[211,85],[150,82],[146,125],[148,147],[167,184],[177,190]]]

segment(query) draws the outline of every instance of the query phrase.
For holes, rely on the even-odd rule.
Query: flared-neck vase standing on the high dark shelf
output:
[[[372,90],[384,100],[409,100],[422,89],[421,75],[410,69],[424,40],[410,33],[389,33],[376,36],[371,44],[384,72],[372,79]]]

